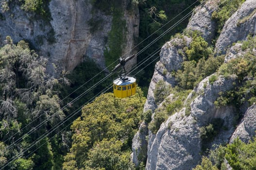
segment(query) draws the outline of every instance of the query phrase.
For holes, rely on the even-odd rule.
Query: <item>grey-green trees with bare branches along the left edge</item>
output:
[[[45,74],[46,60],[30,50],[28,43],[20,41],[16,45],[9,36],[5,43],[0,48],[0,141],[4,141],[0,142],[0,166],[21,154],[4,169],[59,170],[61,150],[65,151],[60,141],[53,149],[53,141],[44,138],[38,150],[34,146],[24,152],[39,136],[65,117],[60,111],[58,94],[54,89],[59,81]],[[55,116],[39,129],[22,136],[53,114]],[[14,143],[19,137],[22,137],[22,142]],[[35,152],[30,154],[32,151]]]

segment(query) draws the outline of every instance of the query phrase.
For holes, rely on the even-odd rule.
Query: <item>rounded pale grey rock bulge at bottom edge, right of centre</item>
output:
[[[184,115],[185,108],[161,125],[151,144],[146,170],[189,170],[200,161],[199,128],[191,116]]]

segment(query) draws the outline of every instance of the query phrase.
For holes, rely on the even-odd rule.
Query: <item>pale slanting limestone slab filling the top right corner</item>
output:
[[[230,17],[216,43],[215,51],[225,54],[225,49],[234,42],[245,40],[248,34],[256,34],[256,3],[246,0]]]

